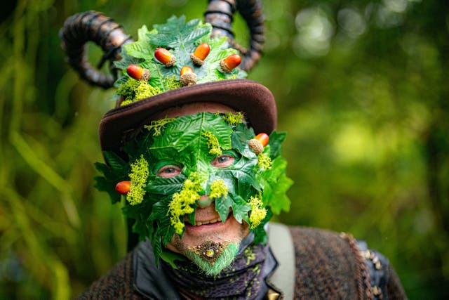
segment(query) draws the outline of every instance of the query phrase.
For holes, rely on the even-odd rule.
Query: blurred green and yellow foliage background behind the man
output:
[[[449,9],[420,0],[264,1],[250,74],[271,89],[290,213],[353,233],[391,261],[410,299],[448,298]],[[0,299],[69,299],[126,253],[119,205],[93,188],[112,91],[80,81],[58,30],[102,11],[136,36],[206,1],[21,0],[0,25]],[[241,44],[248,37],[236,18]],[[91,60],[101,53],[89,46]]]

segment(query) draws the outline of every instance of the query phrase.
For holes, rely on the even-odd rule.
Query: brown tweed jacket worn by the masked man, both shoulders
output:
[[[363,242],[329,230],[289,230],[295,248],[293,299],[406,299],[387,259]],[[79,299],[152,299],[136,288],[133,257],[128,253]],[[283,294],[277,297],[282,298]]]

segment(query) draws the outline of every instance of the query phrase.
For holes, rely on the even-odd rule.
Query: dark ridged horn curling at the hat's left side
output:
[[[99,69],[106,60],[110,62],[120,60],[121,46],[132,41],[119,24],[96,11],[77,13],[67,18],[60,30],[60,38],[62,48],[67,53],[67,60],[74,70],[79,72],[81,78],[104,89],[112,87],[115,79],[112,75],[100,72]],[[105,52],[98,68],[88,63],[86,56],[88,41],[93,41]]]

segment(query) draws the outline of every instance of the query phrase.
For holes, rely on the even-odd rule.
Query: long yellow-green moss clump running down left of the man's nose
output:
[[[181,222],[180,217],[194,212],[193,204],[199,200],[199,192],[201,192],[199,175],[191,173],[189,178],[184,181],[182,190],[179,193],[173,194],[172,201],[168,204],[168,215],[170,216],[170,223],[175,228],[175,233],[182,234],[184,230],[184,223]]]

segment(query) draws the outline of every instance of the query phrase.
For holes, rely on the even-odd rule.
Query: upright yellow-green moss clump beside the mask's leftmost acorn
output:
[[[140,158],[131,164],[131,173],[128,175],[131,179],[131,185],[126,200],[131,205],[142,203],[148,174],[148,162],[143,155],[140,155]]]

